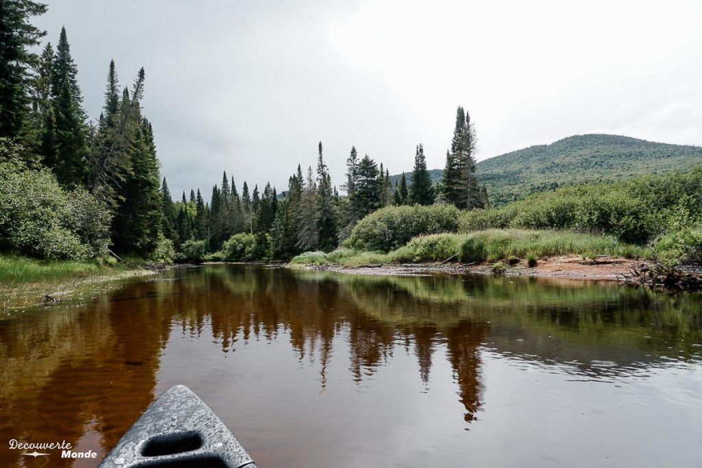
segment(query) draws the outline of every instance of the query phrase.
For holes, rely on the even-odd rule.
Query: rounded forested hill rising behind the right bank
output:
[[[619,135],[575,135],[477,163],[490,201],[502,205],[557,185],[607,182],[702,164],[702,147],[668,145]],[[442,169],[430,171],[439,180]],[[409,173],[406,174],[409,182]],[[392,178],[392,183],[395,183]]]

